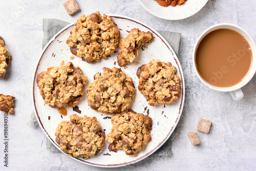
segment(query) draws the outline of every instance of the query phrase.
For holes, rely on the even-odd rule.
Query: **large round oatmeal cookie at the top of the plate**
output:
[[[118,48],[119,30],[113,19],[97,11],[80,16],[66,43],[72,54],[87,62],[109,57]]]

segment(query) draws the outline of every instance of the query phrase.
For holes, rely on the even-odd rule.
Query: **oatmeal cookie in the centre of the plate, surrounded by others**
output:
[[[104,67],[103,74],[94,75],[89,83],[87,99],[89,106],[105,114],[123,112],[134,100],[136,89],[133,79],[121,69]]]

